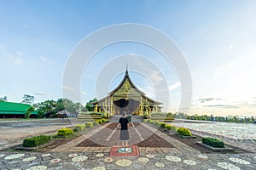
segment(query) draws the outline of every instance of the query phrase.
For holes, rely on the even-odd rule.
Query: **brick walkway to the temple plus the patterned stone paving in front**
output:
[[[47,152],[0,152],[0,169],[255,169],[256,154],[202,154],[146,123],[130,130],[131,144],[155,134],[173,147],[139,147],[140,156],[108,156],[119,132],[110,123]],[[104,135],[103,135],[104,134]],[[132,139],[133,138],[133,139]],[[102,146],[81,144],[90,139]],[[99,141],[104,141],[100,143]]]

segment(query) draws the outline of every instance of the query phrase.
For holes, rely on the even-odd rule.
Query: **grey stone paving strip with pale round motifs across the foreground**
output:
[[[98,157],[98,153],[93,152],[49,152],[49,156],[44,156],[46,153],[24,152],[25,155],[21,157],[15,157],[17,156],[16,154],[20,154],[20,152],[1,152],[0,154],[5,155],[0,158],[0,169],[27,169],[36,166],[45,166],[48,167],[48,169],[92,169],[93,167],[105,167],[106,169],[223,169],[224,167],[219,166],[225,165],[225,163],[227,166],[230,166],[230,168],[233,166],[233,169],[255,169],[256,166],[256,158],[254,158],[256,154],[204,154],[206,157],[201,156],[204,158],[195,154],[173,154],[172,152],[152,154],[154,158],[147,158],[148,153],[145,152],[141,152],[141,156],[131,157],[110,157],[108,154],[103,154],[102,157]],[[69,157],[70,154],[86,156],[86,159],[73,161],[73,158]],[[10,159],[11,155],[14,157],[13,159]],[[36,156],[37,158],[32,161],[23,161],[25,158],[31,156]],[[166,156],[173,156],[176,159],[171,159],[170,161]],[[146,161],[139,161],[140,157],[147,159],[142,159]],[[106,158],[112,158],[113,161],[104,161]],[[230,158],[238,159],[234,159],[236,161],[234,162],[234,160],[230,161]],[[131,166],[120,167],[117,164],[119,160],[131,161]]]

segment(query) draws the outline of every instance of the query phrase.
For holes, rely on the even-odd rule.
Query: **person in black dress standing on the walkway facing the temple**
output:
[[[129,134],[129,121],[126,117],[125,111],[122,113],[122,116],[119,118],[119,124],[117,128],[121,127],[119,140],[122,141],[122,146],[127,147],[128,141],[130,140],[130,134]]]

